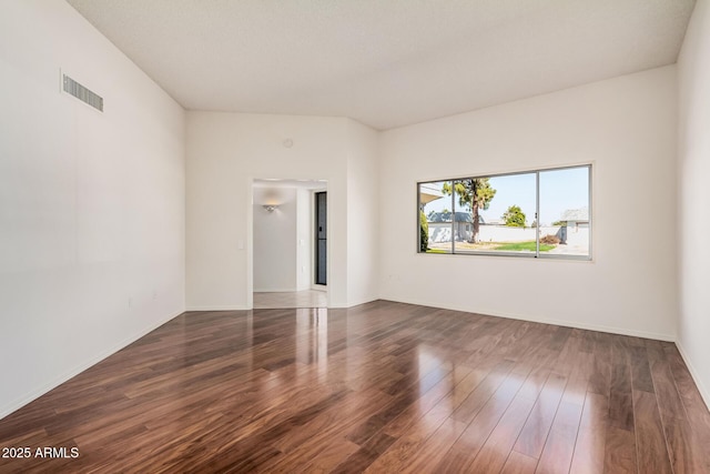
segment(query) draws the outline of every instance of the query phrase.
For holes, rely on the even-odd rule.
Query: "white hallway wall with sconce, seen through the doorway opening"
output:
[[[297,212],[295,188],[254,188],[254,291],[296,291]]]

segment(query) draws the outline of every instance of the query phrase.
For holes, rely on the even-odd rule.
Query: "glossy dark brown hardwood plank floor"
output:
[[[710,414],[671,343],[378,301],[185,313],[0,447],[32,454],[2,473],[710,473]]]

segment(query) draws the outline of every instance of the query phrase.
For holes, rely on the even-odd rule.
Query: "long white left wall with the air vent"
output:
[[[0,78],[2,417],[184,310],[184,111],[63,1],[0,3]]]

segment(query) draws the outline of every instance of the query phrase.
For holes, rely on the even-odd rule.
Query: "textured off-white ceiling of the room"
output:
[[[676,62],[694,0],[68,0],[185,109],[392,129]]]

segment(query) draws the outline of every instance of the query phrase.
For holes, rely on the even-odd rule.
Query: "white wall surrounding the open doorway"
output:
[[[187,307],[252,305],[254,178],[328,181],[328,299],[347,304],[347,119],[187,113]]]

